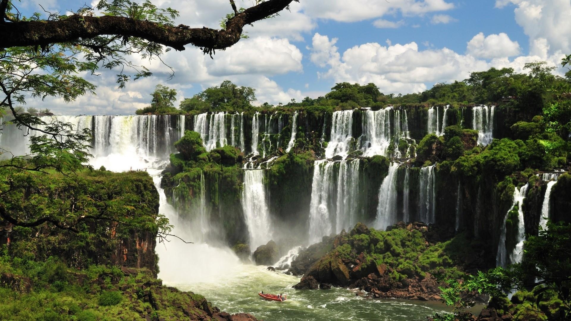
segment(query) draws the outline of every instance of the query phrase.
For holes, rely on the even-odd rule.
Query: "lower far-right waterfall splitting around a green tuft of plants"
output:
[[[528,191],[528,184],[522,186],[520,189],[517,186],[513,191],[513,203],[509,208],[508,212],[505,214],[504,221],[501,225],[500,230],[500,242],[498,242],[498,252],[496,254],[496,265],[501,267],[506,267],[510,263],[521,262],[521,252],[523,250],[524,240],[525,240],[525,222],[524,222],[524,212],[522,204],[524,203],[525,195]],[[505,248],[505,238],[506,238],[506,228],[505,223],[508,219],[509,212],[512,211],[513,207],[517,205],[517,216],[519,220],[518,231],[517,231],[517,245],[513,251],[509,254],[508,250]]]

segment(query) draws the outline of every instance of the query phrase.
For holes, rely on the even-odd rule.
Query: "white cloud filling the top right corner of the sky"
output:
[[[529,37],[530,52],[546,40],[548,54],[571,53],[571,2],[569,0],[497,0],[496,7],[516,6],[516,22]]]

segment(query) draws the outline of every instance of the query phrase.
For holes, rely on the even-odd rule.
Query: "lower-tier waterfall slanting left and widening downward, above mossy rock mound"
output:
[[[383,179],[383,183],[379,188],[379,205],[377,206],[377,217],[374,224],[375,228],[384,230],[387,226],[397,222],[396,172],[399,166],[399,163],[391,163],[391,166],[389,166],[389,172]]]

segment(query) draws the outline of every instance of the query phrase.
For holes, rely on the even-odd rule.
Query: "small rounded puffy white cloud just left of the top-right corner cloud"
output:
[[[512,57],[520,54],[520,45],[517,41],[511,41],[505,33],[487,37],[479,33],[468,42],[466,52],[477,58]]]

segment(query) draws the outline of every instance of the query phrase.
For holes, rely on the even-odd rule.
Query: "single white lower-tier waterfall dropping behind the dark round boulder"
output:
[[[253,167],[254,163],[244,164],[242,209],[250,234],[250,247],[255,249],[271,239],[271,225],[264,170]]]

